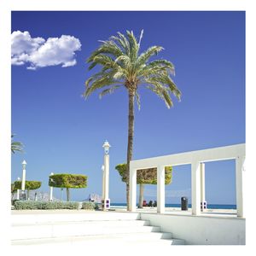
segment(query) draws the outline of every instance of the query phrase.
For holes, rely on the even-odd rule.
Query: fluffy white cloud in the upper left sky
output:
[[[15,31],[11,35],[12,65],[29,64],[27,69],[61,65],[74,66],[75,51],[81,49],[78,38],[62,35],[61,38],[32,38],[29,32]]]

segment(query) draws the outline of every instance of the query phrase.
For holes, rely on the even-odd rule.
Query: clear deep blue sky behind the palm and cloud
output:
[[[174,63],[183,96],[167,109],[151,91],[139,91],[134,159],[245,143],[244,12],[13,12],[12,32],[45,40],[68,35],[81,47],[71,67],[61,67],[63,62],[36,70],[26,68],[31,63],[12,66],[12,132],[26,146],[24,154],[12,155],[12,181],[21,177],[25,159],[27,179],[42,181],[44,191],[50,172],[69,172],[88,175],[88,188],[73,189],[73,200],[101,194],[102,144],[108,139],[110,198],[125,201],[125,183],[114,166],[125,162],[127,93],[119,90],[102,100],[95,93],[86,101],[81,94],[94,73],[85,60],[98,40],[125,30],[138,36],[142,29],[142,49],[165,48],[159,57]],[[208,203],[236,203],[234,162],[206,167]],[[189,166],[174,168],[166,194],[177,197],[166,202],[179,202],[183,194],[190,199],[190,183]],[[154,199],[155,189],[146,187],[146,199]]]

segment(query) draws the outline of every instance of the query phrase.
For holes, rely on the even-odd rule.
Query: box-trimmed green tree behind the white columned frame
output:
[[[119,172],[122,181],[127,183],[127,177],[125,175],[127,165],[119,164],[115,166],[115,169]],[[168,185],[172,183],[172,166],[165,167],[165,184]],[[140,185],[139,193],[139,208],[143,208],[143,193],[144,193],[144,184],[157,184],[157,169],[156,168],[147,168],[137,170],[137,184]]]

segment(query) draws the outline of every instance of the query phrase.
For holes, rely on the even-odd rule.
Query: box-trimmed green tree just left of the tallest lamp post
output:
[[[70,201],[69,189],[87,188],[87,176],[80,174],[53,174],[49,176],[49,186],[67,189],[67,201]]]

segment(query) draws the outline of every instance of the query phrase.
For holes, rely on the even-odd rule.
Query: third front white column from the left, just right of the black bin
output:
[[[194,161],[191,164],[191,199],[192,199],[192,215],[201,213],[201,180],[200,180],[200,162]]]

